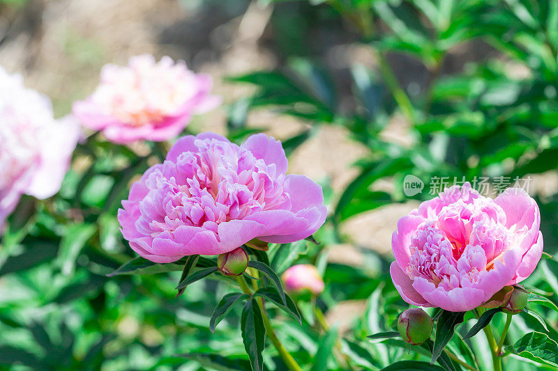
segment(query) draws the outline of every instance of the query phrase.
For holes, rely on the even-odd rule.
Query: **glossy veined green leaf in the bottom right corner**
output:
[[[544,333],[531,332],[506,347],[506,353],[558,368],[558,343]]]

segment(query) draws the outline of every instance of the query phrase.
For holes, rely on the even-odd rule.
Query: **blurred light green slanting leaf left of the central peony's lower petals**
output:
[[[62,274],[73,274],[77,257],[96,230],[97,228],[93,224],[80,223],[68,226],[66,234],[60,242],[57,258]]]

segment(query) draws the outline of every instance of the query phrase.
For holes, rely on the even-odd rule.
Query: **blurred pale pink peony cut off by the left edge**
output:
[[[80,125],[54,120],[50,99],[0,67],[0,227],[22,194],[48,198],[60,189]]]

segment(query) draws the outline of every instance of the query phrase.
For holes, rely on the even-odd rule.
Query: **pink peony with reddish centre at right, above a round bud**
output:
[[[474,309],[534,271],[543,253],[540,222],[522,189],[492,200],[469,183],[451,187],[399,219],[391,278],[407,303]]]

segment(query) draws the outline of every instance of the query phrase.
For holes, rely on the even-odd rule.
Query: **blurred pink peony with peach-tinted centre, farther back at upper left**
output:
[[[209,94],[211,77],[195,74],[186,63],[164,56],[130,58],[127,67],[108,64],[91,97],[75,102],[73,112],[85,127],[102,130],[114,143],[166,141],[188,125],[194,114],[209,111],[220,99]]]

